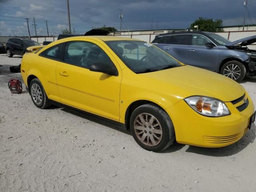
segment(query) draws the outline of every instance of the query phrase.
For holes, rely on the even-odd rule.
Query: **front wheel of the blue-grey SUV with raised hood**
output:
[[[246,68],[241,62],[229,61],[222,66],[220,73],[236,82],[240,82],[246,75]]]

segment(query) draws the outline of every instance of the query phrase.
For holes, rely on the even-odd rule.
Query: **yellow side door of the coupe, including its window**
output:
[[[118,76],[90,71],[89,67],[95,62],[112,64],[117,68]],[[66,42],[56,79],[62,103],[119,120],[122,72],[102,44],[94,40]]]

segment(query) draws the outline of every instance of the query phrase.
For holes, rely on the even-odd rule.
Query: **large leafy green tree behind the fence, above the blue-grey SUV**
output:
[[[190,24],[190,28],[194,29],[194,26],[198,25],[198,30],[208,31],[208,32],[221,32],[223,31],[223,21],[222,19],[213,19],[199,17],[193,23]]]

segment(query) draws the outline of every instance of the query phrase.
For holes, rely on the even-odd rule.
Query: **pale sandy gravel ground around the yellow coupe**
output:
[[[36,108],[7,82],[21,57],[0,54],[0,191],[252,192],[256,126],[224,148],[173,144],[161,153],[97,118],[63,108]],[[256,78],[242,86],[256,105]]]

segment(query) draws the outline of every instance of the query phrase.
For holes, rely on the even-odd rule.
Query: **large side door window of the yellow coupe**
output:
[[[109,67],[114,66],[108,55],[98,45],[85,41],[66,42],[64,62],[90,68],[96,62]]]

